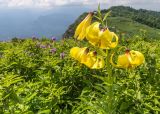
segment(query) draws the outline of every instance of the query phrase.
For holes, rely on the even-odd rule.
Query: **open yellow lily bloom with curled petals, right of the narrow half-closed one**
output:
[[[99,29],[100,23],[94,22],[86,30],[86,39],[94,46],[102,49],[115,48],[118,44],[118,36],[109,29]],[[115,41],[113,41],[115,39]]]

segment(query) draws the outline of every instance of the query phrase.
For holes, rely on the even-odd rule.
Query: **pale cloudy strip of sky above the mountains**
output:
[[[160,10],[160,0],[0,0],[0,8],[50,9],[64,5],[129,5],[135,8]]]

